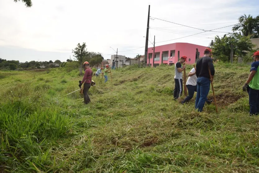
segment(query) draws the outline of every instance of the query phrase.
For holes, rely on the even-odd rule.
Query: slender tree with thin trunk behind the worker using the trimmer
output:
[[[73,56],[79,62],[79,74],[83,75],[83,72],[82,72],[83,61],[86,60],[87,55],[88,55],[86,44],[83,43],[81,45],[80,43],[78,43],[77,47],[72,50],[72,53],[74,53]]]

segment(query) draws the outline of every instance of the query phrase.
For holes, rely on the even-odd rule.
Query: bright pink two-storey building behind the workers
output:
[[[172,43],[156,46],[154,66],[161,63],[173,65],[184,55],[187,57],[186,64],[194,64],[199,58],[199,56],[196,56],[196,49],[198,49],[199,55],[202,57],[205,48],[207,47],[191,43]],[[153,47],[148,48],[147,64],[153,66]]]

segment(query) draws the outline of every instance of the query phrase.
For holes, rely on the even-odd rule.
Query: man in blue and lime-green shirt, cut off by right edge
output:
[[[246,83],[243,85],[243,91],[248,91],[250,115],[259,115],[259,74],[257,73],[259,66],[259,51],[254,52],[252,56],[254,62],[251,65],[250,75]]]

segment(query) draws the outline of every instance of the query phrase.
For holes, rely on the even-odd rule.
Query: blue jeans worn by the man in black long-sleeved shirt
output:
[[[210,91],[211,82],[209,78],[198,77],[197,79],[197,97],[195,101],[195,109],[202,112],[207,95]]]

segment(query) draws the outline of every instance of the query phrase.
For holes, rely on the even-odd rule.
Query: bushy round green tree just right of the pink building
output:
[[[228,35],[225,34],[222,38],[216,36],[212,46],[213,57],[216,57],[217,59],[220,59],[224,62],[229,62],[231,44],[233,44],[234,47],[233,54],[235,58],[243,58],[253,48],[253,44],[249,37],[243,36],[239,33]]]

